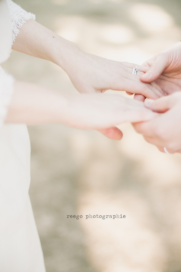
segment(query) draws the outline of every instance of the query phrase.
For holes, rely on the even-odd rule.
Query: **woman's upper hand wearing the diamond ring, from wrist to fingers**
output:
[[[132,74],[133,63],[118,62],[74,49],[71,62],[67,61],[63,69],[80,93],[105,92],[108,89],[142,94],[157,99],[163,96],[162,89],[156,83],[142,83],[139,79],[145,68],[139,66],[137,75]]]

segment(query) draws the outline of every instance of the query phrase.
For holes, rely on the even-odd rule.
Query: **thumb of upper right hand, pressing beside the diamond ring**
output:
[[[163,71],[167,68],[167,56],[165,53],[160,53],[154,60],[147,72],[140,76],[140,80],[144,83],[151,83],[156,80]]]

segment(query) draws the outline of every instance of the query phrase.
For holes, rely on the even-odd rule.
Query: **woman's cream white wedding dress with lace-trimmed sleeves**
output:
[[[11,0],[0,0],[0,64],[25,21],[35,19]],[[30,140],[26,125],[3,125],[14,79],[0,66],[0,271],[45,272],[28,195]]]

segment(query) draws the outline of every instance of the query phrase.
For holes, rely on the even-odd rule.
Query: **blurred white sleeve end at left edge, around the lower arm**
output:
[[[14,78],[4,72],[0,73],[0,126],[4,123],[10,105]]]

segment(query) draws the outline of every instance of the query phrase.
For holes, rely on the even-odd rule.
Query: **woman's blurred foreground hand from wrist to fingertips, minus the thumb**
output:
[[[144,103],[119,94],[82,94],[68,97],[66,125],[83,129],[107,129],[125,122],[148,121],[157,113]]]

